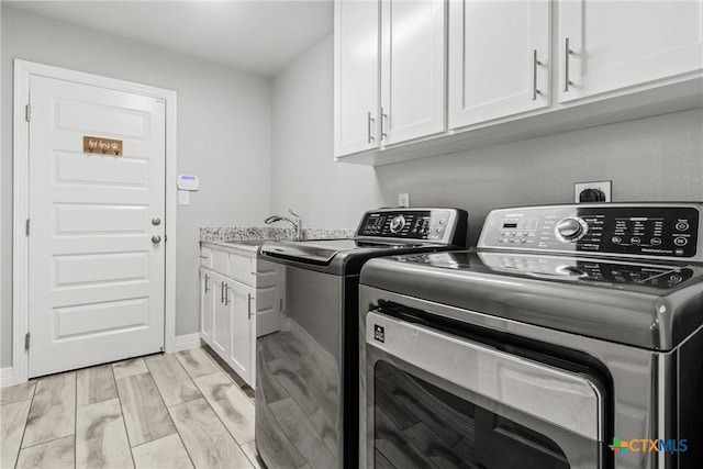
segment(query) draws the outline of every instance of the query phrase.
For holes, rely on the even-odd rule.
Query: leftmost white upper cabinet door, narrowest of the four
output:
[[[379,144],[379,3],[338,0],[334,15],[334,153],[343,156]]]

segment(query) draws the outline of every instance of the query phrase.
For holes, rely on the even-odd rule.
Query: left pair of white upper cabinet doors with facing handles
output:
[[[445,131],[445,1],[335,2],[335,156]]]

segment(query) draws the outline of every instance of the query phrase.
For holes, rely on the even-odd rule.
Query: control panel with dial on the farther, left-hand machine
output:
[[[366,212],[356,235],[454,244],[453,237],[457,228],[461,231],[461,223],[466,233],[467,214],[457,209],[383,209]]]

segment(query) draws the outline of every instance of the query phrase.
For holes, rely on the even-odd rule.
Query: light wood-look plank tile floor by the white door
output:
[[[260,468],[254,401],[201,348],[0,389],[0,468]]]

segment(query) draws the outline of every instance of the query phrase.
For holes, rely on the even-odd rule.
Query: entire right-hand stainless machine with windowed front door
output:
[[[703,467],[702,210],[503,209],[367,263],[366,467]]]

